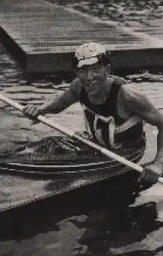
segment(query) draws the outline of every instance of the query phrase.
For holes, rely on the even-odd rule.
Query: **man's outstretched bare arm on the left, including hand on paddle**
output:
[[[23,113],[25,116],[31,118],[37,118],[38,115],[45,115],[46,113],[60,113],[79,100],[80,89],[80,80],[75,79],[70,84],[69,89],[64,91],[60,97],[48,100],[48,102],[45,102],[39,108],[36,105],[27,105],[23,108]]]

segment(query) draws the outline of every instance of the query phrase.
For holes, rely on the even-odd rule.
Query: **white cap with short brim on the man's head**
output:
[[[95,64],[99,61],[98,56],[105,54],[106,50],[103,45],[97,42],[88,42],[86,44],[80,45],[75,52],[75,57],[77,58],[77,67],[82,67],[83,65]]]

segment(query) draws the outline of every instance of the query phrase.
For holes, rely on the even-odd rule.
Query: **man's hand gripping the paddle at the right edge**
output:
[[[138,181],[148,181],[156,184],[158,182],[158,178],[162,176],[162,170],[163,166],[158,163],[153,163],[152,165],[145,166]]]

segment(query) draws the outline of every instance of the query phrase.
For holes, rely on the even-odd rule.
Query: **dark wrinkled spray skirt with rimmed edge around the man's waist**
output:
[[[145,148],[132,148],[124,157],[137,162]],[[123,165],[77,140],[50,137],[1,155],[0,170],[25,176],[70,178],[83,174],[119,173]]]

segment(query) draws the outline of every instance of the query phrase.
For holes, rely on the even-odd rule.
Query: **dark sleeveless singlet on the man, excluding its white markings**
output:
[[[119,126],[121,124],[124,124],[126,122],[126,119],[124,120],[120,116],[118,116],[116,105],[117,105],[117,96],[118,91],[122,86],[121,81],[113,81],[112,87],[110,89],[110,94],[105,100],[104,103],[101,105],[94,105],[90,102],[88,99],[88,94],[86,93],[86,90],[83,88],[80,91],[80,103],[81,105],[85,105],[88,110],[91,110],[92,112],[108,117],[113,116],[115,121],[115,126]],[[91,134],[93,135],[94,140],[96,140],[94,136],[94,113],[91,113],[87,109],[85,110],[85,116],[89,124],[89,128],[91,129]],[[98,120],[97,128],[100,128],[102,130],[102,140],[105,141],[105,144],[107,145],[109,140],[109,129],[108,124],[103,122],[102,120]],[[124,132],[115,134],[114,136],[115,143],[122,143],[124,147],[133,147],[133,146],[139,146],[140,144],[144,144],[145,142],[145,135],[143,132],[143,121],[140,121],[138,124],[134,125],[133,127],[127,129]],[[109,146],[108,146],[109,147]]]

